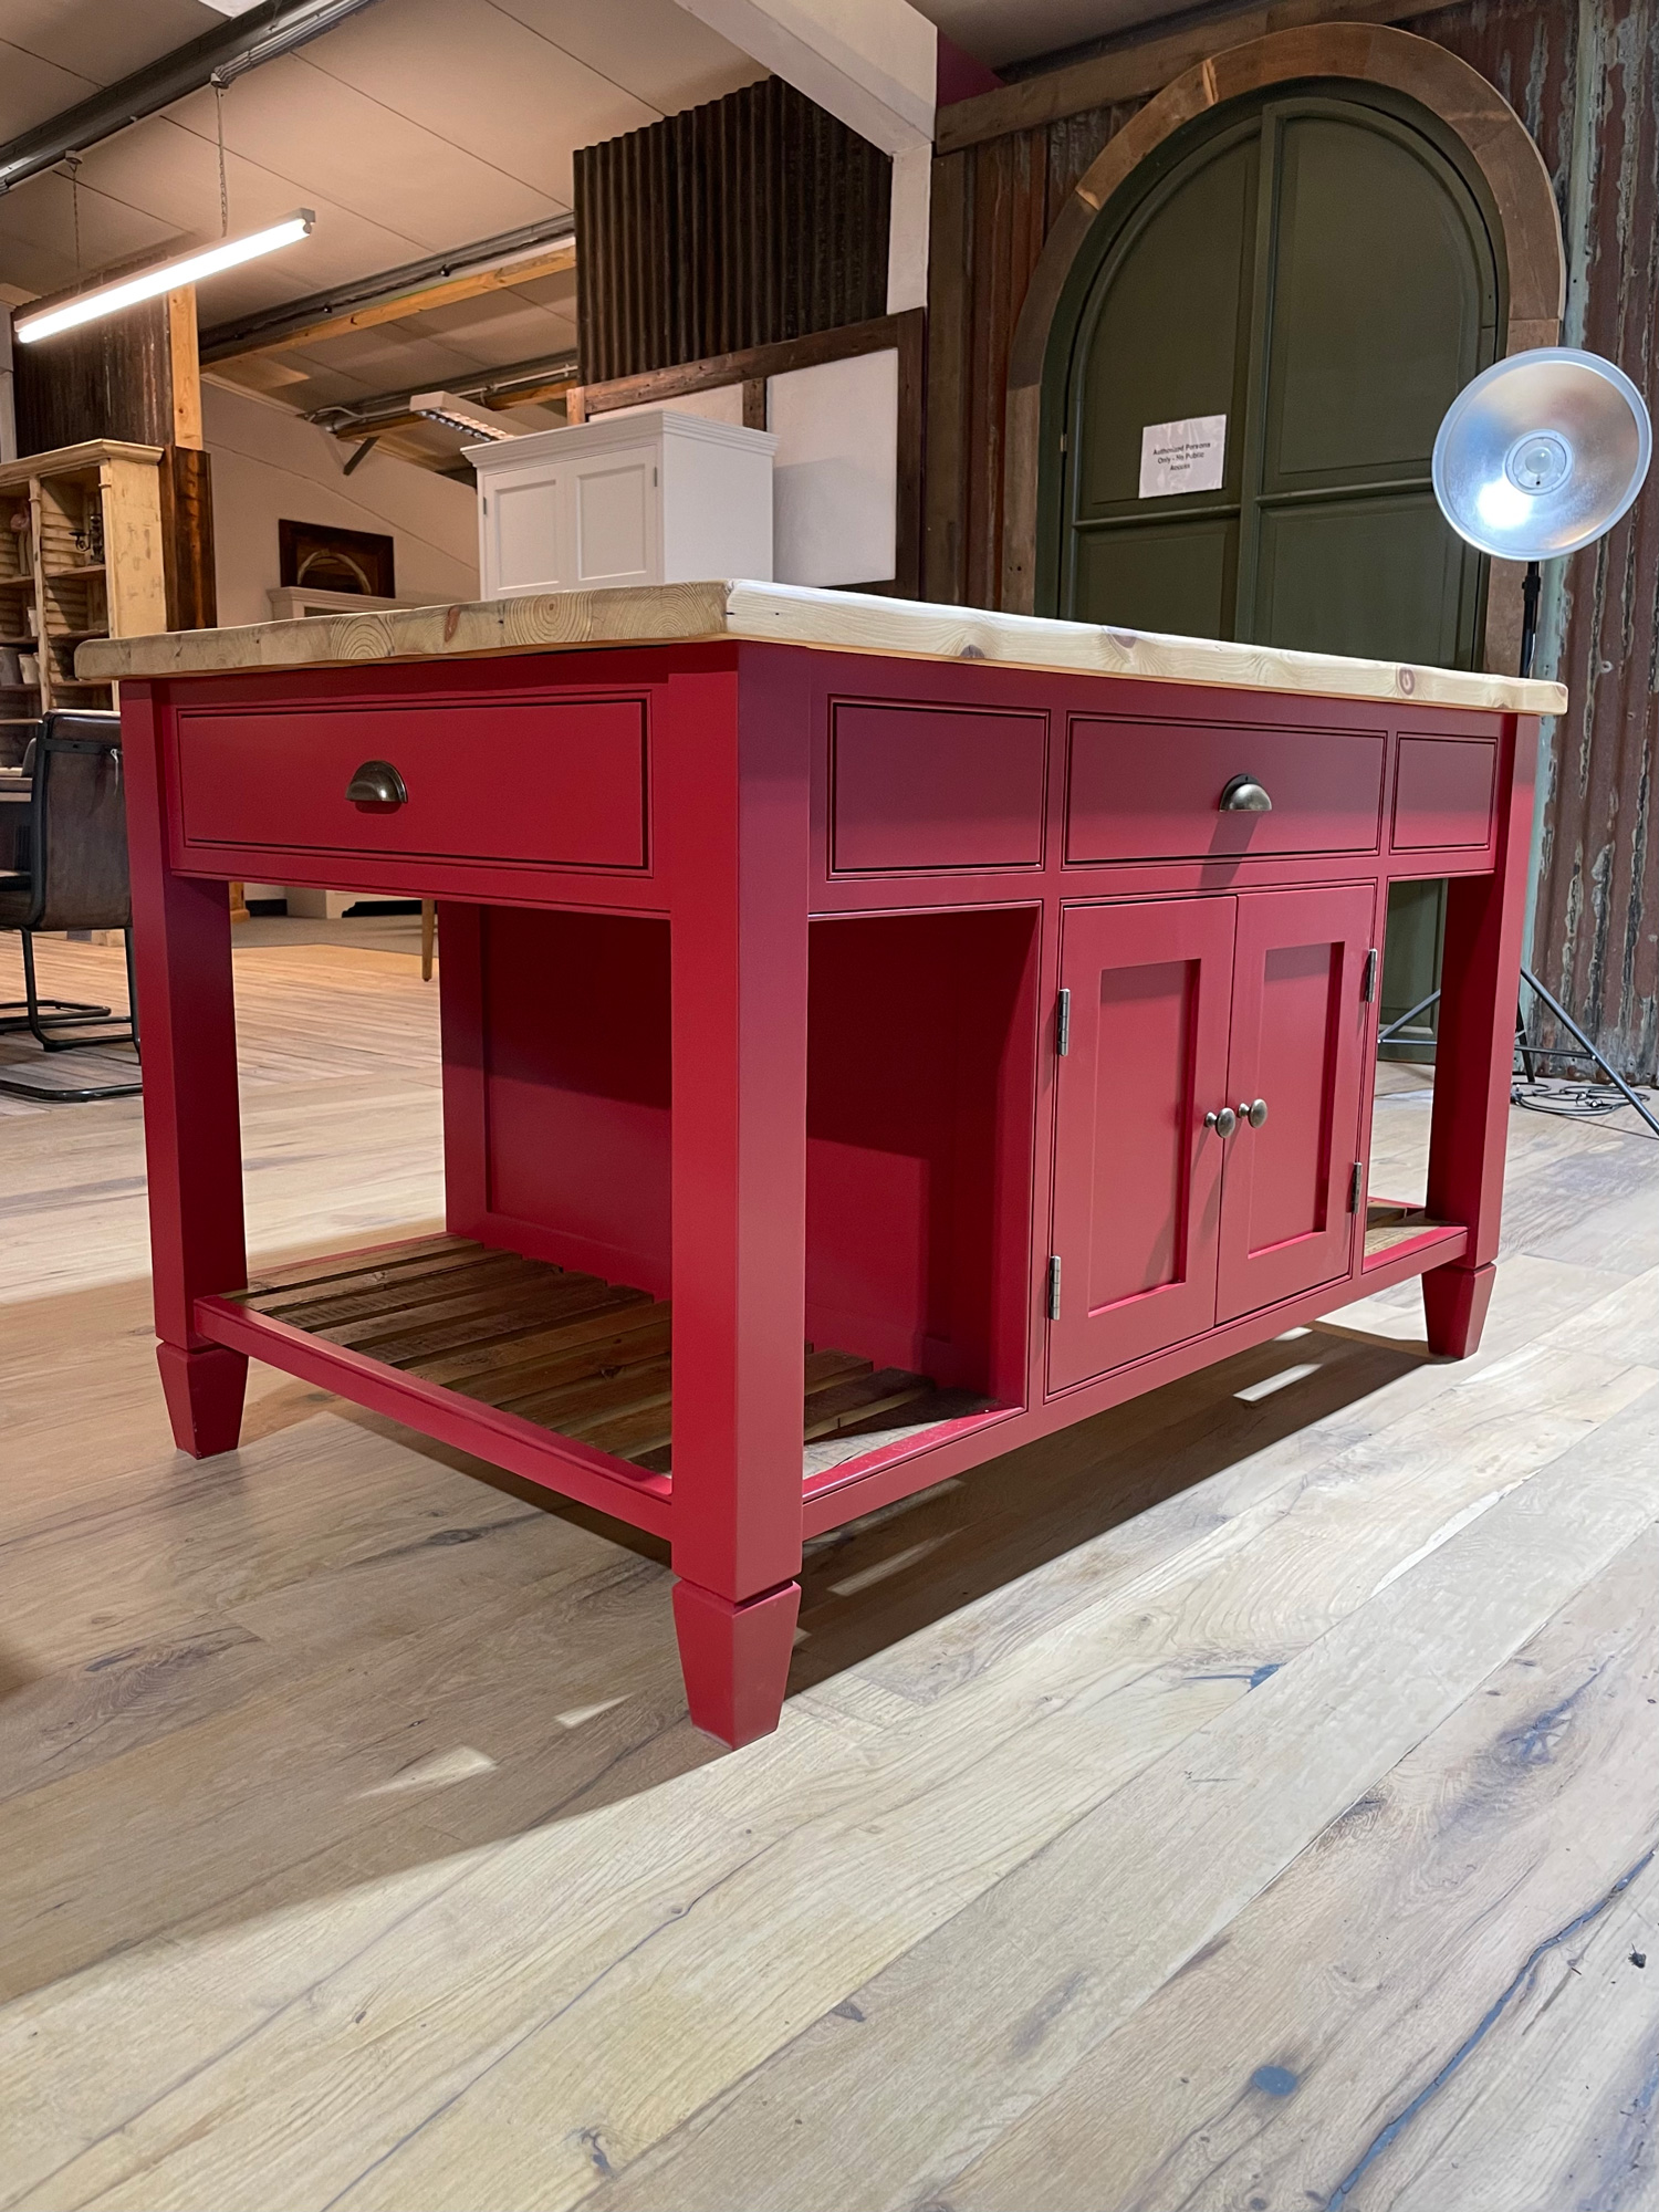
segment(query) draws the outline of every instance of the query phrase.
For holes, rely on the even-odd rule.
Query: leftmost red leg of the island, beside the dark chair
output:
[[[179,1451],[201,1460],[234,1447],[248,1383],[246,1356],[208,1343],[195,1325],[199,1296],[248,1281],[237,1015],[226,887],[168,867],[161,743],[150,686],[124,684],[157,1363]]]

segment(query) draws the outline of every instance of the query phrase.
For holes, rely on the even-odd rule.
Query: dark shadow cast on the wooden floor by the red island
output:
[[[920,1710],[956,1655],[907,1637],[998,1590],[1018,1613],[1066,1555],[1099,1584],[1084,1546],[1166,1500],[1219,1524],[1208,1478],[1321,1420],[1334,1458],[1420,1358],[1296,1332],[816,1540],[792,1694],[876,1663]],[[119,1387],[148,1429],[153,1369]],[[723,1756],[686,1719],[664,1544],[288,1378],[259,1376],[237,1453],[100,1475],[11,1551],[100,1608],[71,1646],[106,1641],[0,1710],[0,1995]]]

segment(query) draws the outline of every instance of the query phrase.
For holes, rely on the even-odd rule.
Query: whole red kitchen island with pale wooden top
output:
[[[179,1447],[252,1356],[666,1537],[726,1743],[803,1537],[1411,1274],[1480,1336],[1551,684],[770,584],[80,659]],[[1365,1172],[1405,876],[1427,1208]],[[248,1276],[241,878],[438,898],[447,1234]]]

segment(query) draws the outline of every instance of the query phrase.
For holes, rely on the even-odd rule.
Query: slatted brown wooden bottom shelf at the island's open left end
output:
[[[644,1290],[462,1237],[422,1237],[265,1270],[232,1303],[668,1473],[670,1303]],[[984,1405],[856,1352],[805,1347],[812,1471],[838,1458],[843,1438],[927,1429]]]

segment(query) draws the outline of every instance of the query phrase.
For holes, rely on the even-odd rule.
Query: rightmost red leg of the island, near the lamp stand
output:
[[[1537,721],[1506,726],[1498,790],[1509,794],[1498,823],[1491,876],[1458,876],[1447,891],[1440,967],[1440,1031],[1429,1130],[1429,1217],[1464,1221],[1469,1248],[1422,1279],[1429,1349],[1467,1358],[1480,1345],[1491,1303],[1498,1228],[1504,1210],[1504,1146],[1515,1064],[1515,1000],[1526,916],[1526,863],[1533,843]]]

